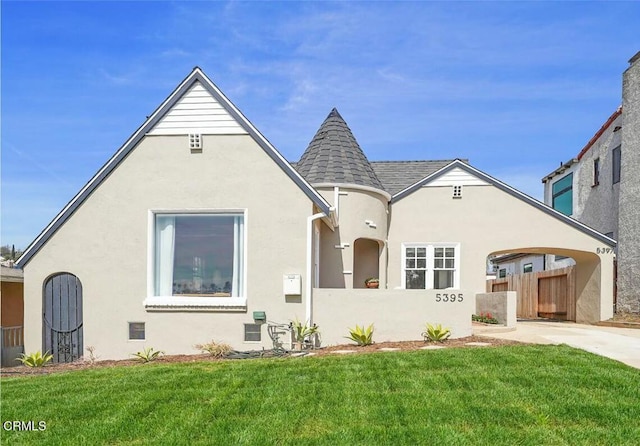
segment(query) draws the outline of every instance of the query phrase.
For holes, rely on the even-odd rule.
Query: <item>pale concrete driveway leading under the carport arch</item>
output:
[[[567,344],[640,369],[640,330],[573,322],[518,321],[513,331],[481,327],[474,334],[533,344]]]

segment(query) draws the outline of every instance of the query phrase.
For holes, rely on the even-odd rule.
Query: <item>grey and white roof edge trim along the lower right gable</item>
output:
[[[416,183],[412,184],[411,186],[401,190],[400,192],[394,194],[391,197],[391,203],[394,203],[396,201],[402,200],[403,198],[407,197],[408,195],[412,194],[413,192],[415,192],[416,190],[420,189],[423,186],[427,186],[429,183],[436,181],[438,178],[446,175],[447,173],[451,172],[454,169],[461,169],[463,171],[465,171],[466,173],[475,176],[476,178],[484,181],[485,183],[491,185],[491,186],[495,186],[498,189],[500,189],[501,191],[511,195],[512,197],[517,198],[518,200],[524,201],[525,203],[535,207],[536,209],[544,212],[545,214],[548,214],[560,221],[562,221],[563,223],[568,224],[569,226],[574,227],[575,229],[578,229],[579,231],[601,241],[602,243],[606,244],[607,246],[616,246],[616,241],[610,237],[607,237],[606,235],[596,231],[593,228],[590,228],[589,226],[585,225],[584,223],[579,222],[578,220],[575,220],[571,217],[568,217],[566,215],[564,215],[561,212],[556,211],[555,209],[553,209],[552,207],[547,206],[546,204],[544,204],[541,201],[536,200],[535,198],[532,198],[530,196],[528,196],[525,193],[520,192],[517,189],[514,189],[513,187],[509,186],[506,183],[503,183],[502,181],[493,178],[492,176],[476,169],[475,167],[470,166],[469,164],[463,162],[462,160],[454,160],[452,161],[449,165],[439,169],[438,171],[428,175],[427,177],[421,179],[420,181],[417,181]]]

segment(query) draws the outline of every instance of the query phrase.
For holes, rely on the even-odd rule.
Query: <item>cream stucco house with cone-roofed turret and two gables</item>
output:
[[[613,247],[463,160],[369,162],[335,109],[292,164],[196,67],[18,260],[25,348],[269,348],[269,323],[295,319],[325,345],[363,323],[378,341],[425,323],[462,337],[487,256],[514,251],[575,258],[571,317],[597,321]]]

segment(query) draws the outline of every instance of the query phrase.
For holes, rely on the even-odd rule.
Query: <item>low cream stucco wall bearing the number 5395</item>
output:
[[[374,324],[376,342],[422,339],[427,323],[451,329],[453,338],[470,336],[474,309],[475,297],[467,290],[315,289],[313,296],[323,345],[348,343],[344,337],[356,324]]]

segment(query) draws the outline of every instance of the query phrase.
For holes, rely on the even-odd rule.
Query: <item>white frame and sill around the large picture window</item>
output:
[[[199,296],[155,296],[155,250],[156,250],[156,215],[243,215],[242,271],[241,289],[243,295],[238,297],[199,297]],[[151,311],[233,311],[246,310],[247,307],[247,265],[248,265],[248,210],[239,209],[150,209],[147,223],[147,297],[143,304]]]

